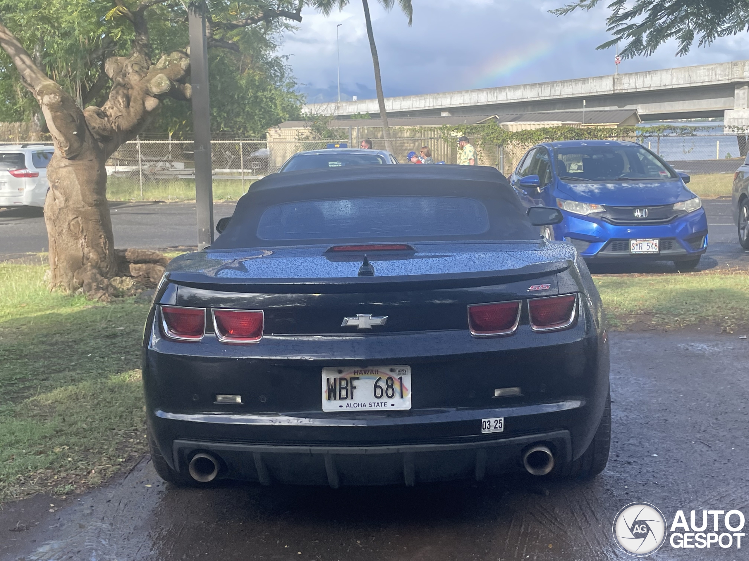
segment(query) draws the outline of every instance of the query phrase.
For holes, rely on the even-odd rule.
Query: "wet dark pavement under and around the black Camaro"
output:
[[[610,341],[613,443],[590,481],[178,489],[144,459],[80,497],[4,506],[0,560],[624,560],[611,524],[632,501],[669,522],[677,509],[749,513],[748,340],[695,329]],[[650,558],[739,561],[742,546],[667,543]]]

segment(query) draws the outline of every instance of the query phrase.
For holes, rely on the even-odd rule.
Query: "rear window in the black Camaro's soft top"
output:
[[[353,239],[473,236],[489,229],[488,212],[469,197],[352,197],[302,200],[267,208],[258,239]]]

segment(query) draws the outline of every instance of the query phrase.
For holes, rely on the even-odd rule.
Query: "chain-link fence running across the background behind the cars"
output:
[[[649,134],[639,129],[637,138],[617,136],[612,140],[639,141],[673,168],[691,176],[690,188],[702,197],[730,196],[733,174],[744,162],[748,138],[722,134],[722,127],[694,131],[680,127],[676,134]],[[620,133],[619,133],[620,135]],[[213,162],[213,198],[237,200],[255,180],[279,171],[283,163],[303,150],[321,150],[336,145],[359,147],[363,138],[305,140],[237,138],[211,141]],[[375,150],[385,150],[383,138],[371,138]],[[496,146],[471,138],[479,154],[480,165],[491,165],[505,175],[512,174],[532,144]],[[437,134],[410,138],[391,138],[390,147],[399,162],[407,162],[407,153],[426,146],[434,162],[455,164],[458,147],[455,139]],[[0,143],[10,144],[10,143]],[[192,141],[142,140],[123,144],[106,162],[109,176],[109,200],[194,200],[195,160]]]

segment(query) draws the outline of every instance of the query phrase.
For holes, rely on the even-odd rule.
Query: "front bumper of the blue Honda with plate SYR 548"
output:
[[[668,224],[616,226],[592,217],[565,213],[555,235],[572,242],[586,261],[692,260],[707,251],[708,230],[704,209],[676,218]],[[663,248],[658,254],[630,254],[616,251],[616,242],[658,238]],[[561,237],[560,237],[561,239]]]

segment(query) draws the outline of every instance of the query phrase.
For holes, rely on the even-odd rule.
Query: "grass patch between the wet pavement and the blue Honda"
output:
[[[595,275],[612,328],[709,325],[733,333],[749,325],[749,274]]]

